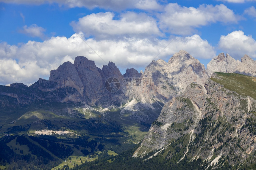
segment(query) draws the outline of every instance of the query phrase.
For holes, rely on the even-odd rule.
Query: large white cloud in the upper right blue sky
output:
[[[179,35],[190,35],[195,32],[195,28],[211,23],[237,23],[242,19],[223,4],[216,6],[203,4],[194,8],[170,3],[158,17],[163,31]]]

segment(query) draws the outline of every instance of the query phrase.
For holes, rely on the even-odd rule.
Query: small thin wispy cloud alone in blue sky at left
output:
[[[25,25],[22,30],[20,30],[20,33],[26,34],[31,37],[40,37],[41,39],[44,39],[46,36],[44,35],[44,32],[46,30],[43,27],[39,27],[36,24],[32,24],[31,26]]]

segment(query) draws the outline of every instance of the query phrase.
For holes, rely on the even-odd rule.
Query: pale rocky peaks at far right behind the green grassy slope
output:
[[[207,64],[207,72],[212,77],[214,72],[240,73],[248,76],[256,76],[256,62],[248,55],[241,58],[241,62],[232,58],[229,54],[220,53]]]

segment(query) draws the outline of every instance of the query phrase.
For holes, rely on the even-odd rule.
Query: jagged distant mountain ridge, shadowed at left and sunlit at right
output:
[[[213,72],[256,76],[255,69],[256,62],[248,55],[240,62],[221,53],[207,64],[206,70],[196,58],[181,50],[168,62],[161,59],[152,61],[144,73],[131,68],[122,75],[113,62],[100,69],[94,61],[78,56],[74,64],[65,62],[52,70],[49,80],[39,79],[29,87],[22,83],[14,83],[10,87],[1,85],[0,95],[11,97],[21,105],[40,100],[82,103],[85,107],[101,107],[102,110],[115,106],[123,110],[122,113],[129,112],[131,117],[143,122],[157,118],[163,105],[179,96],[190,83],[196,82],[203,86]],[[115,93],[105,88],[105,82],[110,77],[120,82],[120,89]],[[140,84],[134,84],[136,78]],[[127,83],[128,80],[130,82]],[[143,80],[149,81],[148,84],[143,84]]]

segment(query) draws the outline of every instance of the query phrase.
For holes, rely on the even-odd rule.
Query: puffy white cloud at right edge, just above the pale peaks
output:
[[[226,36],[222,35],[218,45],[233,58],[241,59],[245,54],[256,58],[255,39],[252,36],[244,35],[243,31],[233,31]]]

